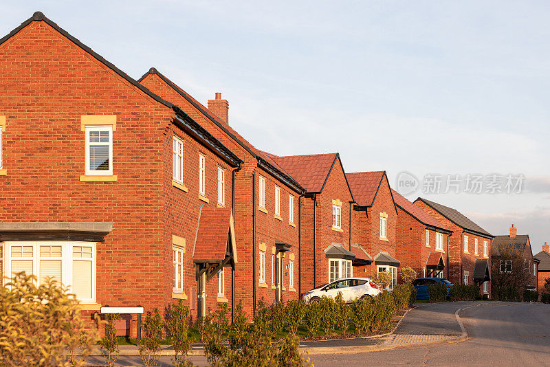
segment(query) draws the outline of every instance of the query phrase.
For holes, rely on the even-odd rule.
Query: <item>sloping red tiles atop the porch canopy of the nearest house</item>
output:
[[[203,208],[199,221],[194,261],[216,262],[225,258],[230,232],[231,208]]]

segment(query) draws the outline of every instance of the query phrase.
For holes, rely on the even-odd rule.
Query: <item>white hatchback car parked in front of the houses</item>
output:
[[[369,278],[344,278],[327,285],[311,289],[304,294],[304,302],[319,302],[322,296],[336,298],[342,292],[344,302],[351,303],[365,296],[378,296],[382,291]]]

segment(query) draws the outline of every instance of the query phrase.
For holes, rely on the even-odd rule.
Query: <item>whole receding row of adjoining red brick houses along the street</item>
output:
[[[494,236],[338,153],[279,156],[157,69],[134,80],[36,12],[0,39],[0,271],[52,276],[83,312],[192,316],[399,267],[489,293]],[[121,333],[133,333],[127,316]],[[132,330],[132,331],[130,331]]]

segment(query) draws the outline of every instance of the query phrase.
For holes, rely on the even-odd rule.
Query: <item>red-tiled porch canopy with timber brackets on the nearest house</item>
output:
[[[231,208],[203,208],[192,253],[197,280],[206,273],[206,281],[226,266],[237,262],[235,230]]]

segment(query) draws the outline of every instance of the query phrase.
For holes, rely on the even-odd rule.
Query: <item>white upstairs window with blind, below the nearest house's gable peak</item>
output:
[[[113,175],[113,127],[86,128],[86,175]]]

